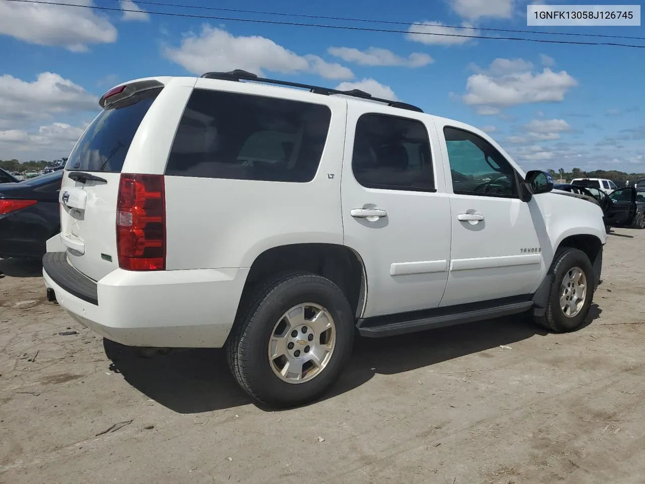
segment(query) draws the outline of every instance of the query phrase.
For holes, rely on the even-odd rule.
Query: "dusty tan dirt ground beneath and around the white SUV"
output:
[[[281,412],[221,350],[104,343],[39,267],[0,261],[0,483],[642,483],[643,252],[645,231],[608,236],[574,334],[516,316],[360,339],[331,394]]]

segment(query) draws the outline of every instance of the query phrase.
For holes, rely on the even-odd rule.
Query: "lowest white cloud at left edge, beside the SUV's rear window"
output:
[[[3,159],[51,160],[68,156],[86,126],[52,123],[37,130],[0,131],[0,154]]]

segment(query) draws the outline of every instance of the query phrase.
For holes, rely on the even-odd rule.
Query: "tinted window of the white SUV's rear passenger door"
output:
[[[405,117],[363,114],[356,123],[352,171],[366,188],[435,191],[426,126]]]

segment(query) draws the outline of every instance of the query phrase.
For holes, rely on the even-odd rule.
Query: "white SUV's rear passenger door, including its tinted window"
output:
[[[426,124],[428,123],[428,124]],[[344,244],[364,263],[364,318],[439,305],[448,279],[450,202],[432,119],[349,106],[342,166]]]

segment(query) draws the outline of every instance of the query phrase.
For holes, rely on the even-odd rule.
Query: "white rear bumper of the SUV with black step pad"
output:
[[[248,268],[117,269],[92,281],[67,263],[64,252],[43,257],[45,286],[59,305],[97,334],[129,346],[222,347],[247,274]]]

